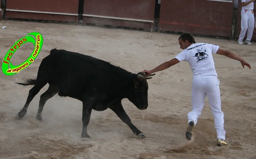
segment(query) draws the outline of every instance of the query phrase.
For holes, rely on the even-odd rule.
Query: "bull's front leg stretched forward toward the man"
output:
[[[121,120],[127,124],[130,129],[132,130],[132,132],[141,137],[141,138],[145,138],[146,136],[143,134],[143,132],[141,132],[139,129],[137,129],[132,123],[131,123],[131,119],[130,117],[127,115],[127,113],[125,112],[122,103],[117,103],[116,105],[113,105],[111,107],[109,107],[111,110],[113,110],[115,112],[115,114],[121,118]]]

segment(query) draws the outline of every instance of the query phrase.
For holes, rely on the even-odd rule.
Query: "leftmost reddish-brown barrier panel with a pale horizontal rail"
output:
[[[77,23],[78,2],[79,0],[34,0],[26,3],[19,0],[9,0],[6,4],[6,18]]]

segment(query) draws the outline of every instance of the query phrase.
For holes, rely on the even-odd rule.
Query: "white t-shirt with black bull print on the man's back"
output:
[[[193,78],[204,75],[216,75],[212,53],[216,53],[219,46],[205,43],[191,44],[176,55],[180,62],[187,61],[193,72]]]

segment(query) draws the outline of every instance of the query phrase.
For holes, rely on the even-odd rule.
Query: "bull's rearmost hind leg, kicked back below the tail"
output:
[[[22,108],[21,111],[18,112],[17,117],[18,118],[22,118],[26,113],[27,113],[27,109],[28,106],[30,104],[30,102],[33,100],[34,96],[45,86],[46,84],[41,84],[41,85],[35,85],[33,88],[31,88],[29,90],[29,94],[28,94],[28,98],[27,101],[24,105],[24,107]]]

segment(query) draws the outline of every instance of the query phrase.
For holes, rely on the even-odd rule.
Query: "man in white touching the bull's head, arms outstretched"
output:
[[[194,37],[189,33],[184,33],[179,37],[181,53],[176,55],[170,61],[155,67],[152,70],[144,70],[146,76],[151,73],[165,70],[182,61],[187,61],[193,72],[191,103],[192,111],[188,113],[188,128],[186,131],[187,140],[191,140],[192,131],[201,112],[204,108],[205,97],[208,97],[209,105],[214,116],[214,125],[217,133],[217,145],[227,145],[225,142],[224,130],[224,114],[221,110],[221,93],[219,88],[219,79],[215,70],[212,54],[225,55],[235,59],[243,66],[251,68],[250,64],[244,61],[240,56],[226,50],[222,50],[219,46],[195,43]]]

